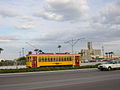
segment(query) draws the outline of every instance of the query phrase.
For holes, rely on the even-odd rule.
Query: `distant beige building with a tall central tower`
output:
[[[101,56],[101,49],[93,49],[92,42],[88,42],[88,49],[81,50],[83,60],[91,60],[93,56]]]

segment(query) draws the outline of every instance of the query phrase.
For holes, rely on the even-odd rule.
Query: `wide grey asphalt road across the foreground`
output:
[[[0,90],[120,90],[120,70],[0,74]]]

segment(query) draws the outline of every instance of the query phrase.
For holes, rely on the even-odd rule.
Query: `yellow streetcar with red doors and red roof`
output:
[[[80,54],[69,53],[45,53],[26,55],[26,66],[30,68],[49,67],[49,66],[79,66]]]

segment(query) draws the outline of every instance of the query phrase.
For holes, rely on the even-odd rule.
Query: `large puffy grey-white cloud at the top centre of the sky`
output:
[[[87,0],[45,0],[44,12],[34,15],[50,20],[85,20],[89,7]]]

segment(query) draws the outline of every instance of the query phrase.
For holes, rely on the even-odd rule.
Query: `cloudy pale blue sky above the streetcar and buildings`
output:
[[[119,0],[0,0],[1,58],[15,59],[29,42],[44,52],[71,52],[65,41],[78,38],[78,52],[92,41],[94,48],[120,51]],[[116,47],[114,47],[116,45]]]

